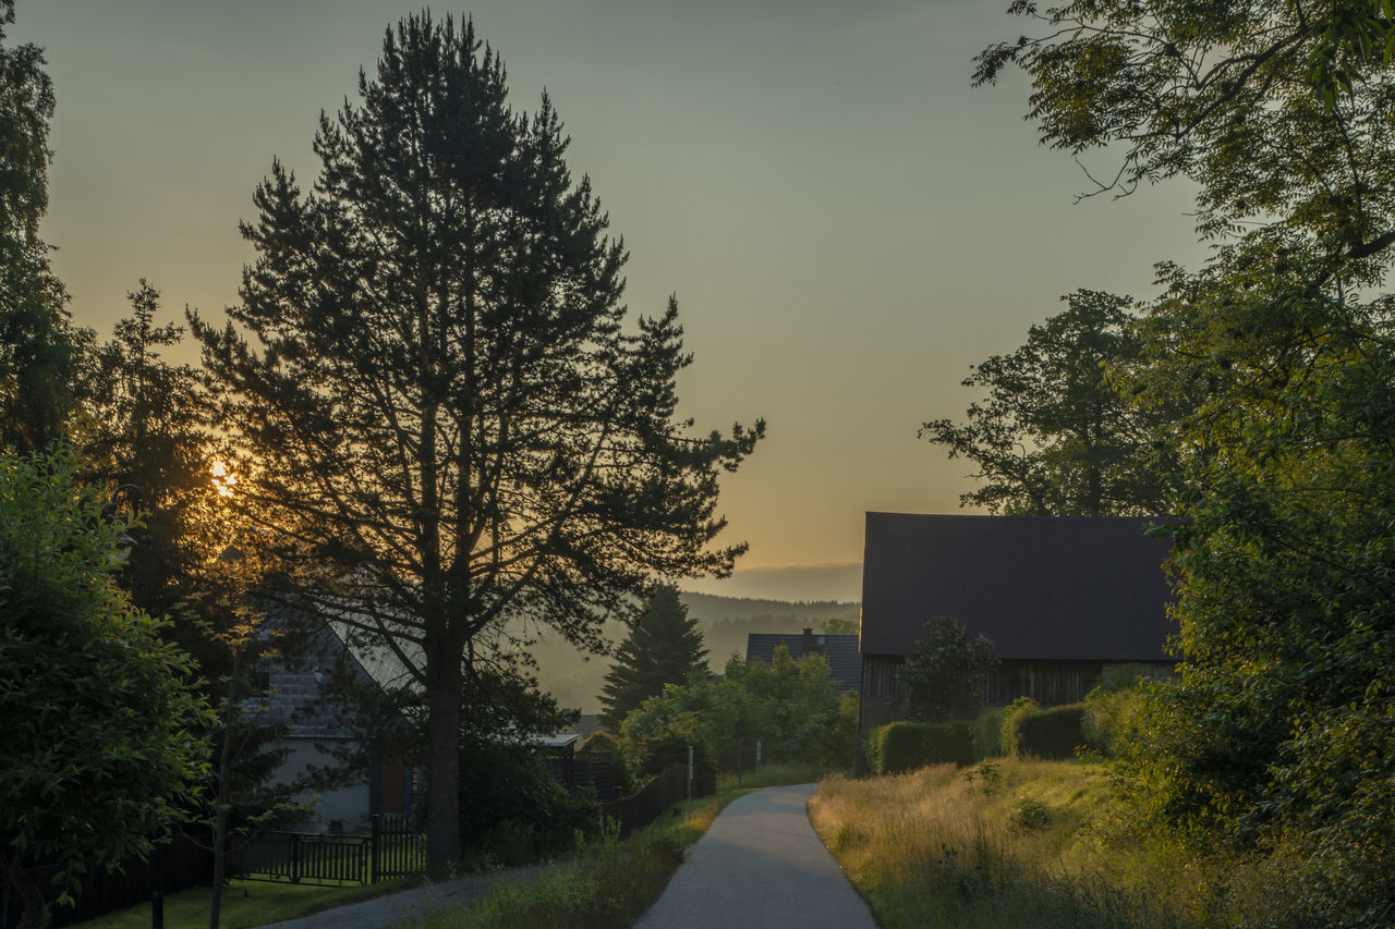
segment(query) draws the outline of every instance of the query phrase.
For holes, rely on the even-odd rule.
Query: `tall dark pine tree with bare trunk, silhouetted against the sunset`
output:
[[[728,572],[717,478],[762,427],[675,420],[677,305],[628,322],[624,247],[555,110],[509,109],[473,24],[403,20],[359,98],[321,117],[314,191],[279,163],[258,187],[229,326],[193,325],[297,603],[424,695],[439,866],[474,643],[512,619],[598,647],[657,577]]]

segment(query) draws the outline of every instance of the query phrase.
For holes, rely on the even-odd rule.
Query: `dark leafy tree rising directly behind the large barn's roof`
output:
[[[978,466],[986,483],[963,505],[1027,516],[1162,513],[1170,460],[1151,441],[1156,417],[1110,379],[1140,357],[1130,301],[1098,290],[1064,300],[1020,349],[974,367],[964,386],[988,398],[964,423],[933,420],[921,437]]]

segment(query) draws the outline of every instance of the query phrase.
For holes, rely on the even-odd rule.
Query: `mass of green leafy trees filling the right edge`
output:
[[[1020,3],[1014,11],[1036,15]],[[1395,916],[1391,594],[1395,244],[1388,4],[1074,4],[989,49],[1032,74],[1043,141],[1184,174],[1204,268],[1162,265],[1130,395],[1183,466],[1183,663],[1122,739],[1145,806],[1295,852],[1311,925]],[[1109,184],[1105,184],[1109,187]]]

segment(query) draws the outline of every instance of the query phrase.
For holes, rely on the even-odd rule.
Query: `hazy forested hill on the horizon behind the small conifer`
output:
[[[732,653],[746,654],[746,635],[752,632],[799,632],[805,626],[819,630],[824,619],[857,622],[861,604],[848,601],[790,601],[749,597],[718,597],[681,591],[678,598],[688,607],[703,630],[707,646],[707,667],[721,671]],[[625,626],[614,622],[605,636],[618,644],[625,637]],[[551,636],[533,647],[538,663],[538,682],[562,706],[579,707],[582,713],[600,709],[598,695],[610,671],[608,656],[586,656],[559,636]]]

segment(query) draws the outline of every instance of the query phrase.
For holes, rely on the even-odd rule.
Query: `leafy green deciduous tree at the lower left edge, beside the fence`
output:
[[[188,656],[113,583],[116,537],[73,456],[0,453],[0,866],[38,925],[27,865],[145,855],[202,777],[208,704]]]

